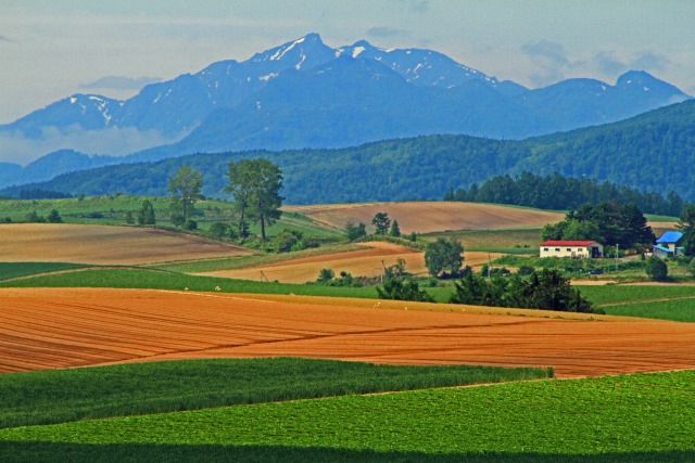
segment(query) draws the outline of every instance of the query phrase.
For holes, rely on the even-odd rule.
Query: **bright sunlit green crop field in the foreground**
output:
[[[9,428],[0,430],[0,440],[9,441],[9,448],[23,441],[60,442],[67,449],[88,445],[92,450],[130,446],[132,451],[148,446],[251,446],[303,449],[306,456],[333,450],[432,459],[478,455],[481,461],[568,461],[566,456],[584,455],[596,461],[608,455],[687,461],[695,454],[694,396],[695,371],[681,371]],[[485,453],[492,459],[483,460]]]

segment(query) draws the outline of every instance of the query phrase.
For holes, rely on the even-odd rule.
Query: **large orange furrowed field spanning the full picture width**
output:
[[[0,290],[0,372],[300,356],[554,366],[559,377],[695,368],[695,324],[365,299]]]

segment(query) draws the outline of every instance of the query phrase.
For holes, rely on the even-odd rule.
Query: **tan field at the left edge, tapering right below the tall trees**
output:
[[[185,233],[135,227],[11,223],[0,227],[0,261],[140,265],[252,254]]]

